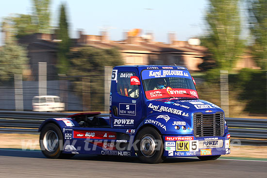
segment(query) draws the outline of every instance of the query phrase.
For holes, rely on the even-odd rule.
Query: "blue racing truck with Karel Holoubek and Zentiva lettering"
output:
[[[216,160],[230,154],[223,110],[200,100],[194,78],[183,66],[113,68],[110,111],[45,120],[40,147],[48,158],[76,154],[137,156],[159,163],[167,157]]]

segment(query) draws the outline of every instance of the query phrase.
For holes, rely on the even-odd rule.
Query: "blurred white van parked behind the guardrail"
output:
[[[65,104],[58,96],[35,96],[33,97],[33,111],[37,112],[60,112],[65,110]]]

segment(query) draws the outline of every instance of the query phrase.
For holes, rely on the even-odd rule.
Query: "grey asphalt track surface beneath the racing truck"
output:
[[[169,158],[144,164],[136,158],[76,155],[47,159],[39,151],[0,150],[0,178],[267,178],[267,162]]]

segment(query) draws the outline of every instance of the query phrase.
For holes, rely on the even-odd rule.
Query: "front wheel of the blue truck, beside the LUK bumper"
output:
[[[151,127],[141,129],[135,140],[139,140],[135,152],[141,162],[160,163],[164,161],[163,141],[156,129]]]

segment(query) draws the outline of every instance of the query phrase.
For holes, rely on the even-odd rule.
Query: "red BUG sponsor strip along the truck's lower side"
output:
[[[90,138],[90,139],[116,139],[117,133],[111,131],[88,131],[74,130],[73,138]]]

